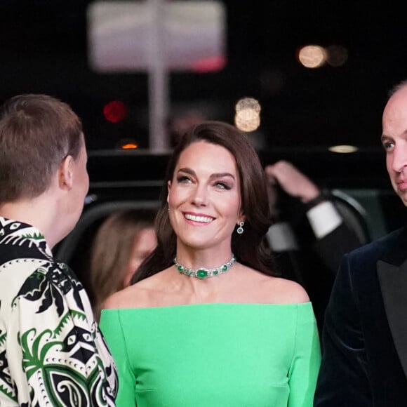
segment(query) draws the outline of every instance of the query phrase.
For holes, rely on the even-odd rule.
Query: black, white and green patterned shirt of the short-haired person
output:
[[[0,217],[0,406],[114,406],[88,296],[35,227]]]

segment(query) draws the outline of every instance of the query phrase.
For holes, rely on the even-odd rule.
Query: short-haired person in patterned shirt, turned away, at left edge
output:
[[[116,370],[88,296],[52,249],[89,179],[82,124],[48,95],[0,110],[0,406],[114,406]]]

